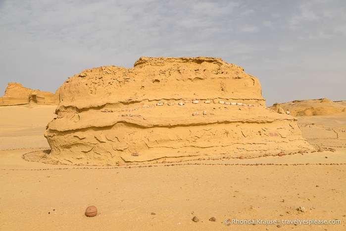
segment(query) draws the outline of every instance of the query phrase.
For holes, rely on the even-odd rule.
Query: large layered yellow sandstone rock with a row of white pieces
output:
[[[311,148],[296,118],[265,108],[257,78],[221,58],[147,58],[84,70],[46,129],[61,163],[115,165]]]

